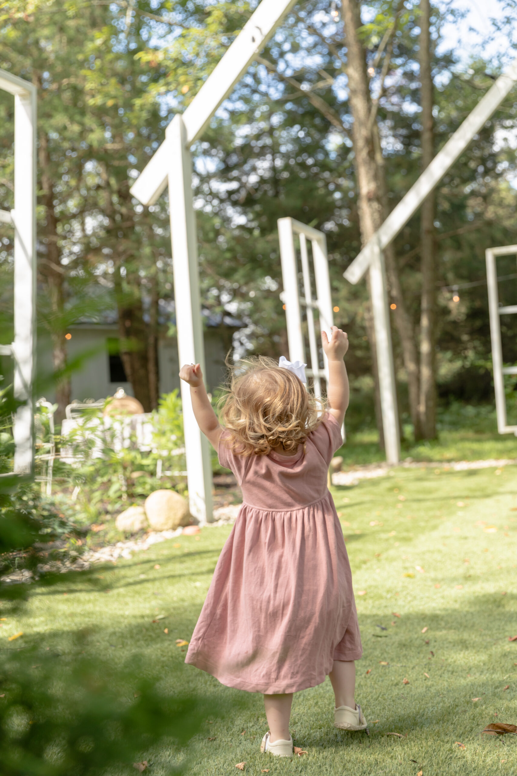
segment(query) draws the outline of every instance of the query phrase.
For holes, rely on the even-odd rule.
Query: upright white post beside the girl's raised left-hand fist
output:
[[[198,278],[198,236],[192,203],[191,154],[185,144],[181,116],[174,117],[167,144],[170,154],[169,211],[172,234],[174,302],[180,364],[201,364],[205,372],[205,348]],[[209,442],[192,411],[190,386],[181,380],[181,404],[187,459],[188,498],[191,514],[202,522],[212,520],[212,465]]]

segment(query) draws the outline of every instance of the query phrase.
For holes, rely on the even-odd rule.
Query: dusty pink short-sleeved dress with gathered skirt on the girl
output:
[[[295,456],[237,456],[219,442],[243,505],[215,566],[186,663],[229,687],[315,687],[362,654],[352,574],[327,472],[342,444],[327,414]]]

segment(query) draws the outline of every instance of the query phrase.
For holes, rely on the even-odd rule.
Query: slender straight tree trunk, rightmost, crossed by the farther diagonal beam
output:
[[[422,172],[433,161],[433,77],[429,0],[420,0],[420,95],[422,102]],[[420,211],[420,258],[422,303],[420,312],[420,396],[422,435],[436,437],[436,240],[435,194],[424,199]]]

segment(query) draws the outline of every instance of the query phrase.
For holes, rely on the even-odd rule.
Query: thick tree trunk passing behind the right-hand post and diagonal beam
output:
[[[348,76],[348,92],[350,109],[353,115],[352,139],[355,154],[357,176],[357,209],[359,213],[361,241],[366,244],[383,221],[381,192],[378,182],[377,163],[375,160],[373,133],[368,130],[371,111],[370,89],[366,71],[364,47],[357,35],[357,28],[362,26],[360,5],[357,0],[343,0],[341,3],[345,27],[347,50],[346,74]],[[371,303],[368,303],[371,307]],[[374,402],[379,440],[384,447],[384,433],[381,417],[381,392],[377,372],[377,347],[371,309],[365,311],[367,335],[370,341],[372,359],[374,362]],[[370,322],[370,324],[368,324]]]

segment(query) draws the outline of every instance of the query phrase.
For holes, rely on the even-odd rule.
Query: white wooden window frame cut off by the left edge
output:
[[[14,471],[33,473],[33,372],[36,346],[36,87],[0,70],[0,88],[15,98],[15,206],[0,210],[0,221],[10,223],[14,240],[14,341],[0,345],[2,355],[15,362],[14,395],[22,401],[12,433]]]

